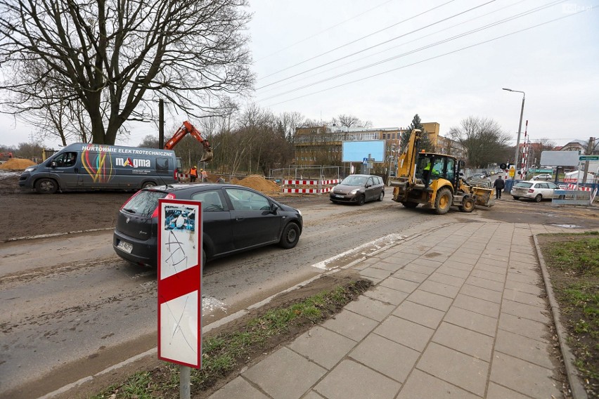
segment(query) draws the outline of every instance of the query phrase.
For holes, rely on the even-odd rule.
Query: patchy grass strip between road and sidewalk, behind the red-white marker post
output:
[[[371,282],[354,281],[310,296],[284,308],[274,308],[249,320],[234,332],[225,332],[202,343],[202,369],[192,369],[192,395],[213,386],[234,370],[242,367],[265,349],[330,318],[343,306],[365,292]],[[269,344],[270,343],[270,344]],[[273,344],[274,343],[274,344]],[[273,344],[273,345],[271,345]],[[92,399],[153,399],[179,397],[179,366],[162,362],[151,371],[138,372],[123,384],[113,385]]]

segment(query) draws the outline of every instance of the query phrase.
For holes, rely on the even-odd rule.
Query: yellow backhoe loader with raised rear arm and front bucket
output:
[[[446,214],[451,205],[472,212],[475,204],[491,207],[492,190],[470,185],[460,176],[465,163],[456,157],[432,152],[418,152],[420,130],[413,130],[406,150],[399,157],[396,177],[389,179],[394,187],[393,200],[406,208],[418,204]]]

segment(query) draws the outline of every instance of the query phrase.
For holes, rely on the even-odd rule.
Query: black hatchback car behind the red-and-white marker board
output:
[[[302,213],[261,192],[231,184],[175,184],[139,190],[121,207],[112,247],[123,259],[157,265],[158,199],[202,202],[202,264],[207,259],[279,244],[293,248]]]

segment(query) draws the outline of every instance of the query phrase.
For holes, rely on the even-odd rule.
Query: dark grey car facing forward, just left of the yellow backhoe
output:
[[[367,201],[382,201],[385,197],[385,183],[379,176],[350,175],[330,190],[332,202],[354,202],[363,205]]]

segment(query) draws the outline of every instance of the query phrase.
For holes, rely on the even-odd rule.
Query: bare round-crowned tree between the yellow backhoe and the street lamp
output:
[[[465,149],[469,166],[484,168],[508,156],[510,136],[493,119],[462,119],[460,126],[449,130],[449,136]]]

